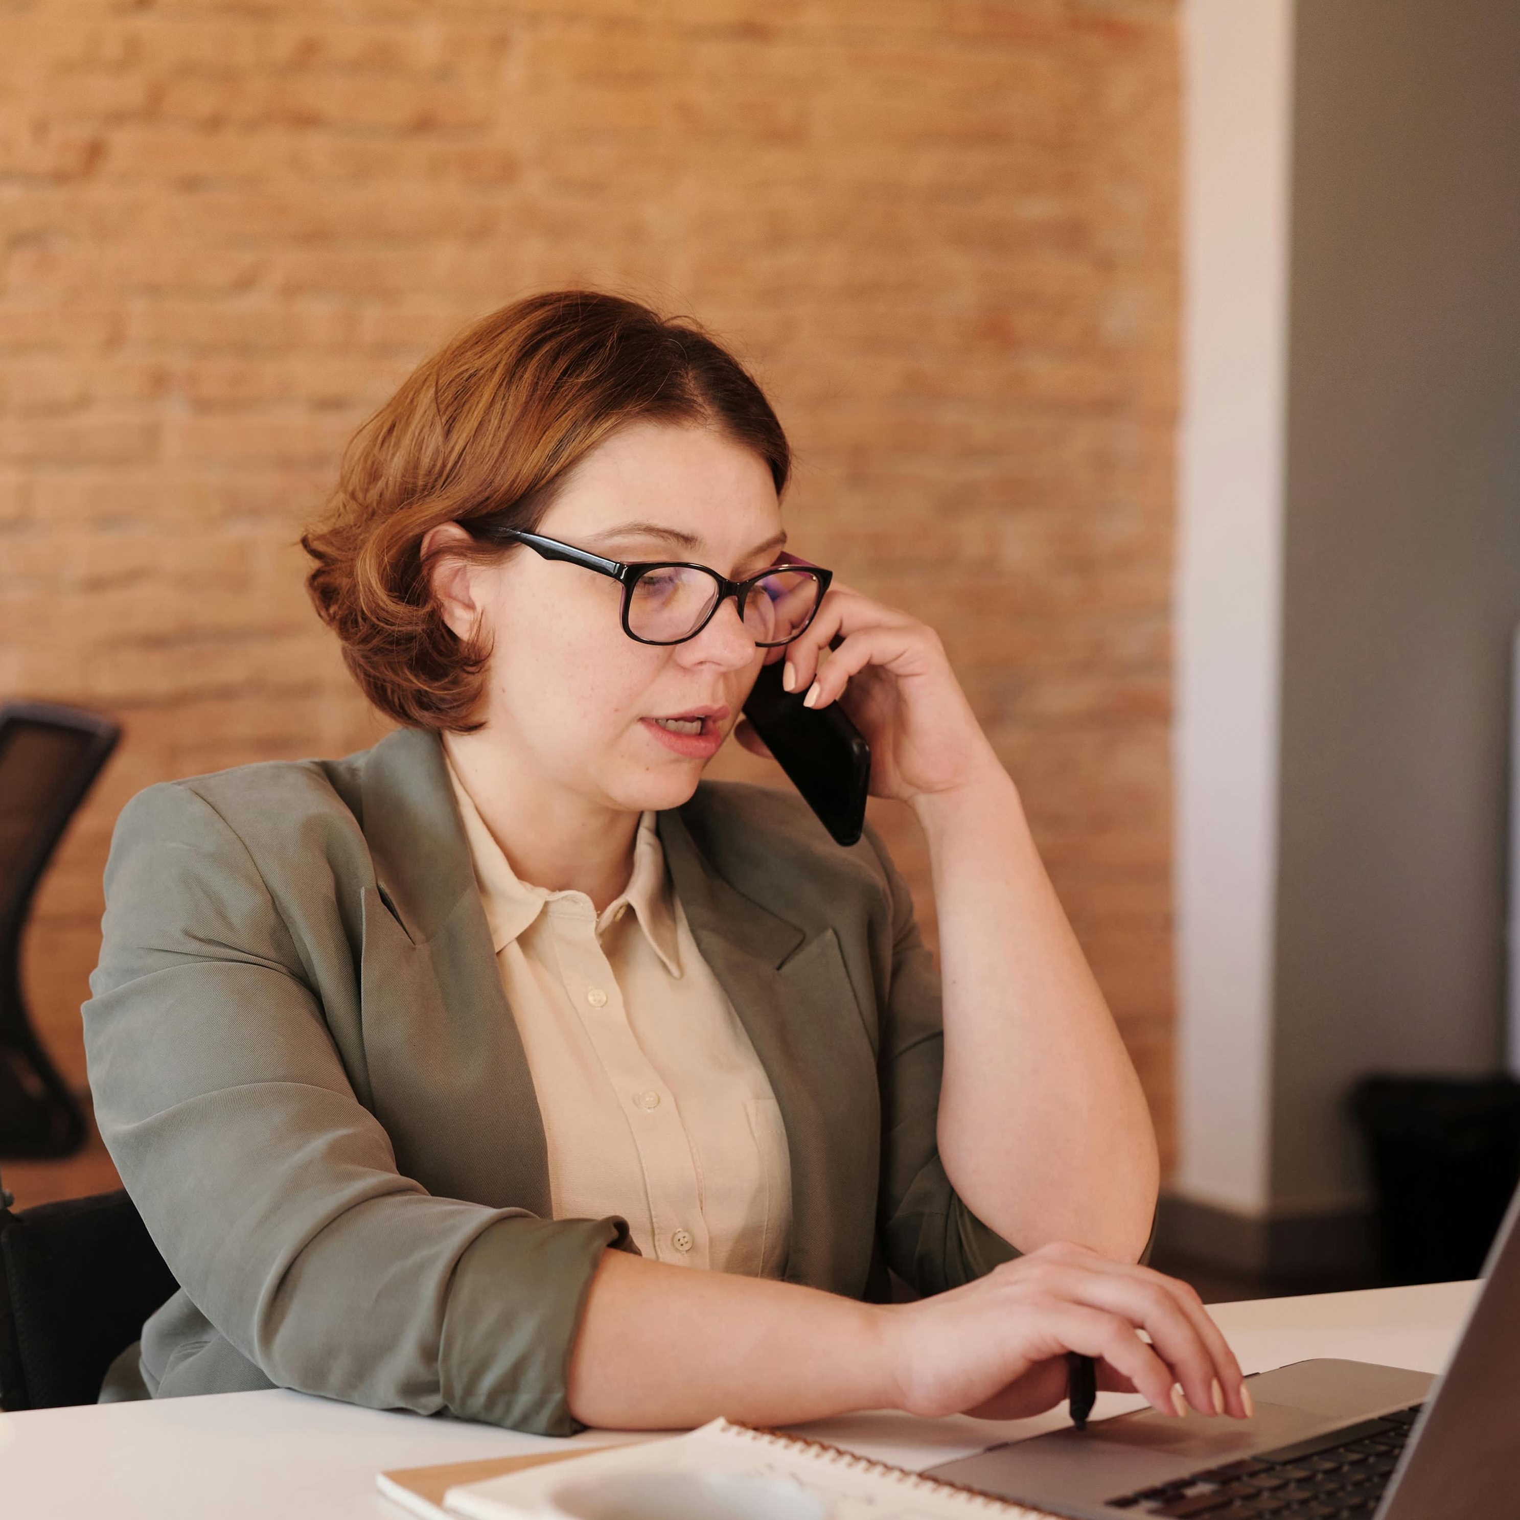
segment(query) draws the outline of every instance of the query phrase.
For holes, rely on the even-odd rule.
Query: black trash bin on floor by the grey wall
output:
[[[1370,1076],[1351,1111],[1377,1189],[1383,1281],[1477,1277],[1520,1183],[1520,1082]]]

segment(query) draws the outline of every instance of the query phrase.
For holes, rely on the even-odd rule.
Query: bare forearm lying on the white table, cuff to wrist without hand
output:
[[[606,1251],[570,1356],[570,1412],[664,1430],[795,1424],[892,1403],[885,1310],[793,1283]]]

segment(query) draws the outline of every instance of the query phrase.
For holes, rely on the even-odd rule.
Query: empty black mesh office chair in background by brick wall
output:
[[[47,702],[0,707],[0,1155],[58,1157],[85,1137],[79,1102],[21,997],[21,930],[58,841],[120,739],[106,717]]]

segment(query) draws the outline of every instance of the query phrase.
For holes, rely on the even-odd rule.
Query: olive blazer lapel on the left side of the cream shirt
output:
[[[374,1111],[429,1192],[549,1218],[543,1117],[436,734],[368,752],[363,1031]]]

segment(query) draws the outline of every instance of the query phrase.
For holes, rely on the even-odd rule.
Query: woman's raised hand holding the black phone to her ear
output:
[[[834,638],[841,643],[825,657]],[[777,657],[790,670],[790,678],[783,675],[789,692],[807,692],[815,708],[841,702],[865,736],[872,796],[912,803],[965,786],[999,765],[939,635],[906,613],[834,581],[807,631],[771,651],[768,663]],[[737,739],[768,754],[748,722],[739,725]]]

